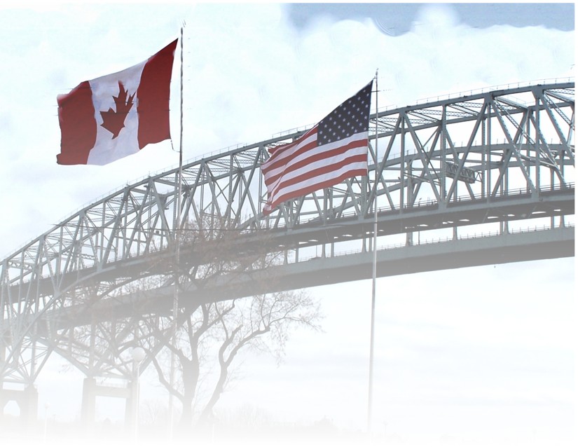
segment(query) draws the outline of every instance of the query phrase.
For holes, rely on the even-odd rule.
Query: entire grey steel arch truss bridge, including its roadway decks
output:
[[[125,186],[2,260],[0,392],[32,386],[52,352],[88,377],[130,378],[128,348],[169,343],[177,262],[191,271],[214,256],[282,255],[266,275],[188,280],[177,324],[201,301],[371,277],[376,212],[379,276],[574,256],[573,81],[379,111],[367,177],[263,216],[259,165],[268,148],[303,132],[195,160],[182,177],[173,169]],[[212,251],[189,243],[177,258],[176,235],[189,222],[204,222],[214,247],[214,228],[235,242]],[[271,272],[277,280],[259,280]],[[139,286],[151,278],[151,289]]]

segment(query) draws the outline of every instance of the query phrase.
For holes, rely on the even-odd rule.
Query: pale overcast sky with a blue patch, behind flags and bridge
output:
[[[184,158],[192,159],[315,123],[376,69],[383,106],[566,80],[573,17],[573,4],[0,6],[0,258],[105,193],[178,163],[164,142],[104,167],[57,165],[56,97],[145,60],[183,22]],[[177,61],[174,148],[178,76]],[[379,280],[376,429],[423,445],[573,445],[573,292],[574,259]],[[247,356],[222,411],[250,405],[284,422],[364,429],[371,282],[310,293],[322,301],[324,333],[295,333],[281,366]],[[50,368],[38,384],[41,408],[76,417],[82,377],[58,372],[58,362]],[[57,397],[65,389],[75,396]],[[151,383],[143,399],[157,394]]]

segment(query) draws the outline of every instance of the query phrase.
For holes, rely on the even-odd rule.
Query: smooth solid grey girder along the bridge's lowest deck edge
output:
[[[377,275],[390,277],[435,270],[488,266],[493,264],[538,261],[574,256],[574,227],[560,227],[525,233],[503,233],[482,238],[448,240],[421,245],[378,249]],[[183,284],[179,307],[189,312],[200,303],[224,301],[255,294],[294,289],[308,289],[330,284],[369,280],[372,276],[373,254],[359,252],[333,257],[317,257],[297,263],[271,266],[251,273],[221,275],[203,287]],[[93,303],[90,308],[60,310],[57,326],[88,324],[106,315],[128,317],[140,312],[155,312],[169,317],[172,312],[174,287],[139,291]],[[51,319],[50,312],[47,319]],[[48,326],[55,329],[55,322]],[[45,325],[41,325],[45,326]]]

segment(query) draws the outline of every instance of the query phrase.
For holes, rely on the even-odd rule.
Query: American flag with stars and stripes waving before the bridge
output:
[[[261,164],[267,186],[263,214],[282,202],[367,175],[369,107],[373,81],[296,141],[270,149]]]

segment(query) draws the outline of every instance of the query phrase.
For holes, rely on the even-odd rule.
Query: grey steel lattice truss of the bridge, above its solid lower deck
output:
[[[259,166],[270,147],[305,130],[186,163],[181,200],[177,169],[125,186],[2,260],[0,383],[32,383],[50,352],[74,359],[87,374],[125,376],[119,359],[130,343],[160,349],[169,310],[110,303],[138,296],[135,278],[170,287],[167,260],[176,230],[187,231],[188,221],[224,223],[245,235],[239,249],[267,240],[270,252],[298,263],[302,247],[360,240],[366,249],[375,212],[387,224],[380,235],[574,214],[574,83],[379,111],[370,130],[368,176],[290,200],[268,216]],[[183,226],[175,228],[179,202]],[[184,256],[188,267],[204,262],[193,254]],[[147,331],[155,324],[164,335]]]

